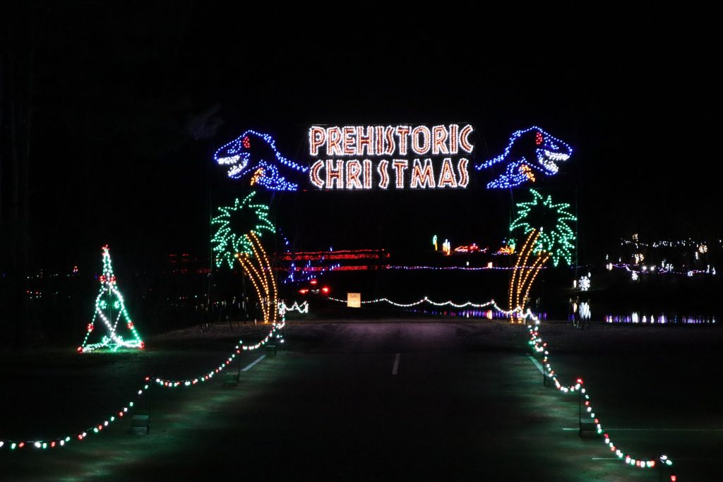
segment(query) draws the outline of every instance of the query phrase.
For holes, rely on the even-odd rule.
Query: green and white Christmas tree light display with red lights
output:
[[[145,347],[143,340],[135,329],[135,325],[126,310],[121,292],[118,291],[116,275],[113,272],[111,263],[111,252],[108,245],[103,246],[103,274],[100,275],[100,292],[95,298],[95,312],[93,319],[87,324],[87,331],[82,345],[78,347],[78,353],[88,353],[95,350],[107,348],[116,351],[119,348],[142,349]],[[131,337],[124,339],[119,335],[118,323],[123,319],[123,325]],[[95,321],[100,319],[106,329],[105,335],[96,343],[88,343],[91,333],[95,330]]]

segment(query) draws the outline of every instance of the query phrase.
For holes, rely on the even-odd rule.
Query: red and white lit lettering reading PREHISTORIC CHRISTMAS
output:
[[[309,181],[318,189],[464,189],[473,132],[469,124],[312,126]]]

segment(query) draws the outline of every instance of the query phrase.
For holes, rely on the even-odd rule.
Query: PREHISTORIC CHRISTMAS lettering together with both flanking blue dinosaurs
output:
[[[292,159],[270,134],[249,129],[213,158],[253,189],[445,190],[466,189],[470,165],[492,175],[487,189],[540,182],[573,154],[538,126],[513,132],[507,147],[483,162],[474,158],[473,139],[470,124],[316,125],[307,131],[308,157]]]

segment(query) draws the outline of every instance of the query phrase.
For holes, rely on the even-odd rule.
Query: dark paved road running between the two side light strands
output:
[[[0,454],[0,479],[658,480],[593,460],[607,456],[599,440],[562,430],[576,398],[542,387],[518,328],[292,325],[286,350],[238,387],[155,390],[150,435],[118,426],[63,451]]]

